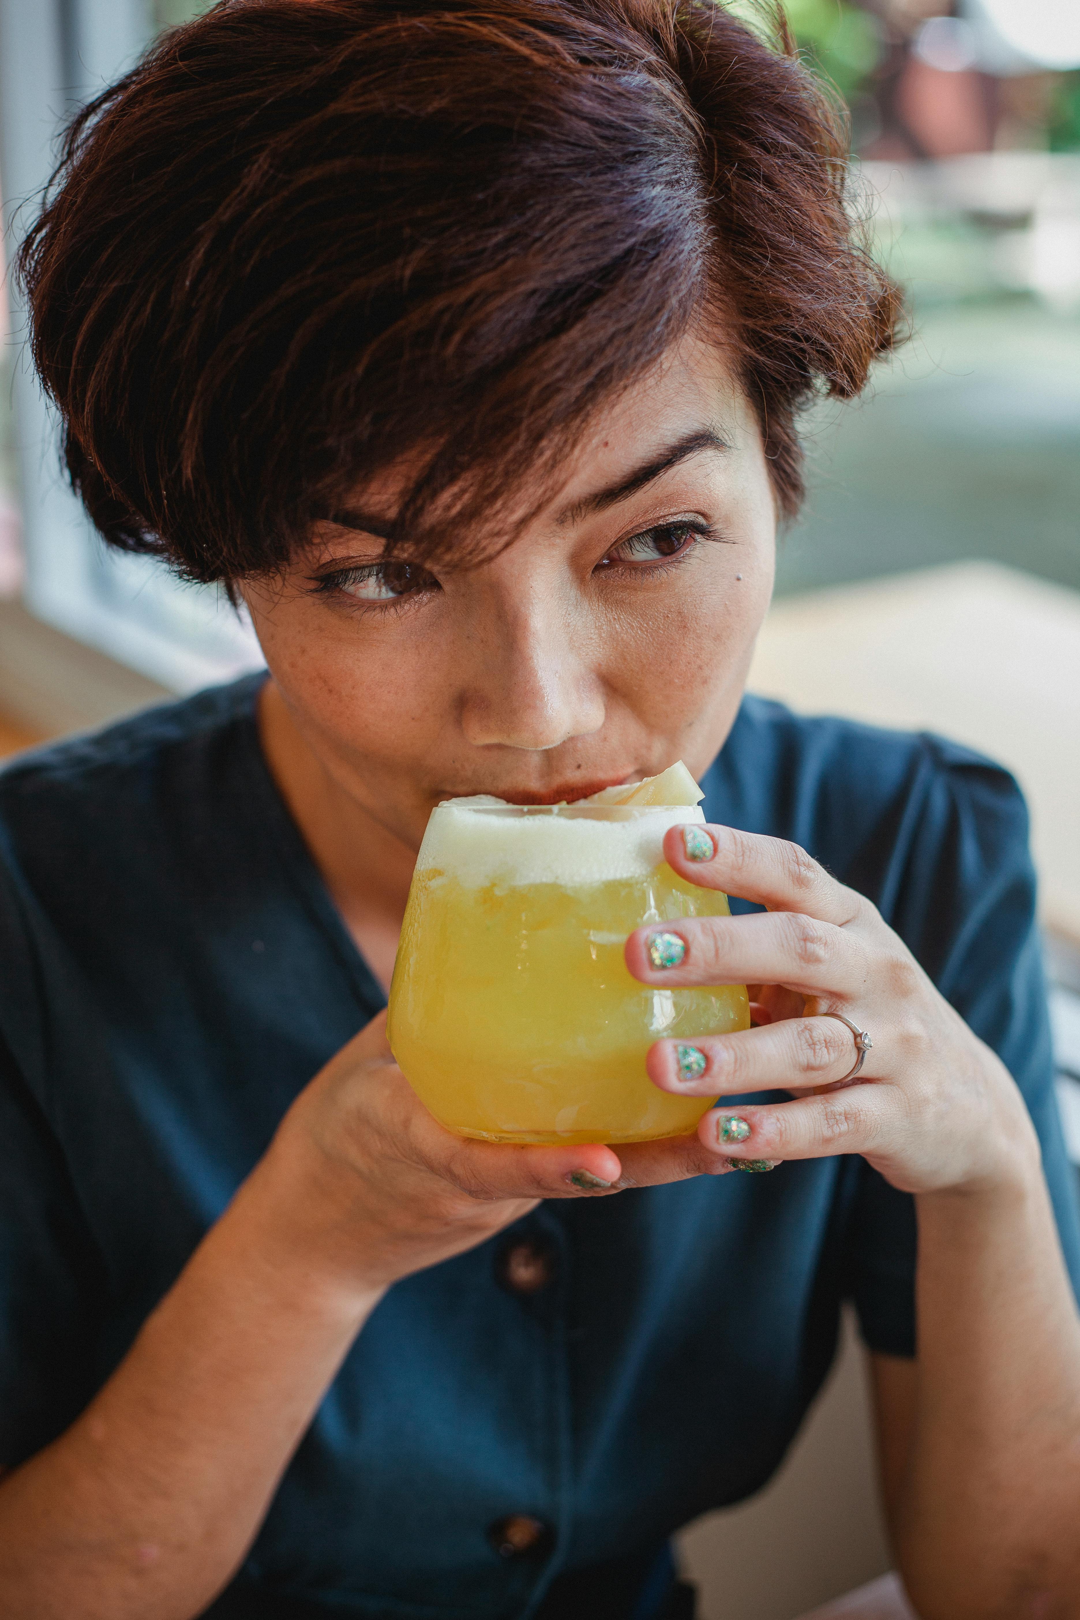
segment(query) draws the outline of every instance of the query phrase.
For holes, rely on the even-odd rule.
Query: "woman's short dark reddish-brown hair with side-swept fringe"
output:
[[[800,408],[900,309],[844,183],[782,24],[714,0],[223,0],[71,125],[34,360],[100,533],[198,580],[405,455],[393,538],[461,543],[701,321],[792,514]]]

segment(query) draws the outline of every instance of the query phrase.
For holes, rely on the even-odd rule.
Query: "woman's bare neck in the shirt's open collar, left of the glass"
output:
[[[274,680],[259,695],[259,739],[270,776],[345,927],[376,978],[389,988],[416,852],[327,770]]]

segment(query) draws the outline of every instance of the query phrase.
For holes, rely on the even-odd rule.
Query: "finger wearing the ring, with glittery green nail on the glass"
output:
[[[664,1092],[722,1097],[831,1085],[847,1079],[858,1056],[850,1029],[839,1019],[792,1017],[730,1035],[701,1035],[693,1042],[657,1040],[644,1066]]]

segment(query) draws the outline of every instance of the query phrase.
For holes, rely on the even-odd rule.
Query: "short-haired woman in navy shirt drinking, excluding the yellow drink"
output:
[[[920,1612],[1078,1612],[1022,802],[743,698],[798,408],[897,321],[842,151],[680,0],[219,5],[76,123],[23,258],[73,480],[270,676],[0,786],[5,1620],[685,1614],[844,1298]],[[742,914],[627,962],[751,982],[649,1055],[724,1106],[452,1137],[379,1011],[432,805],[680,757]]]

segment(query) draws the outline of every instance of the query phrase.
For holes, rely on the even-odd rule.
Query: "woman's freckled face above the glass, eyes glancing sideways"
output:
[[[244,596],[288,723],[387,831],[416,847],[440,799],[554,804],[714,758],[776,530],[761,436],[716,347],[682,343],[601,413],[489,561],[382,565],[363,522],[393,517],[392,481],[356,505],[358,528],[321,525],[283,585]]]

